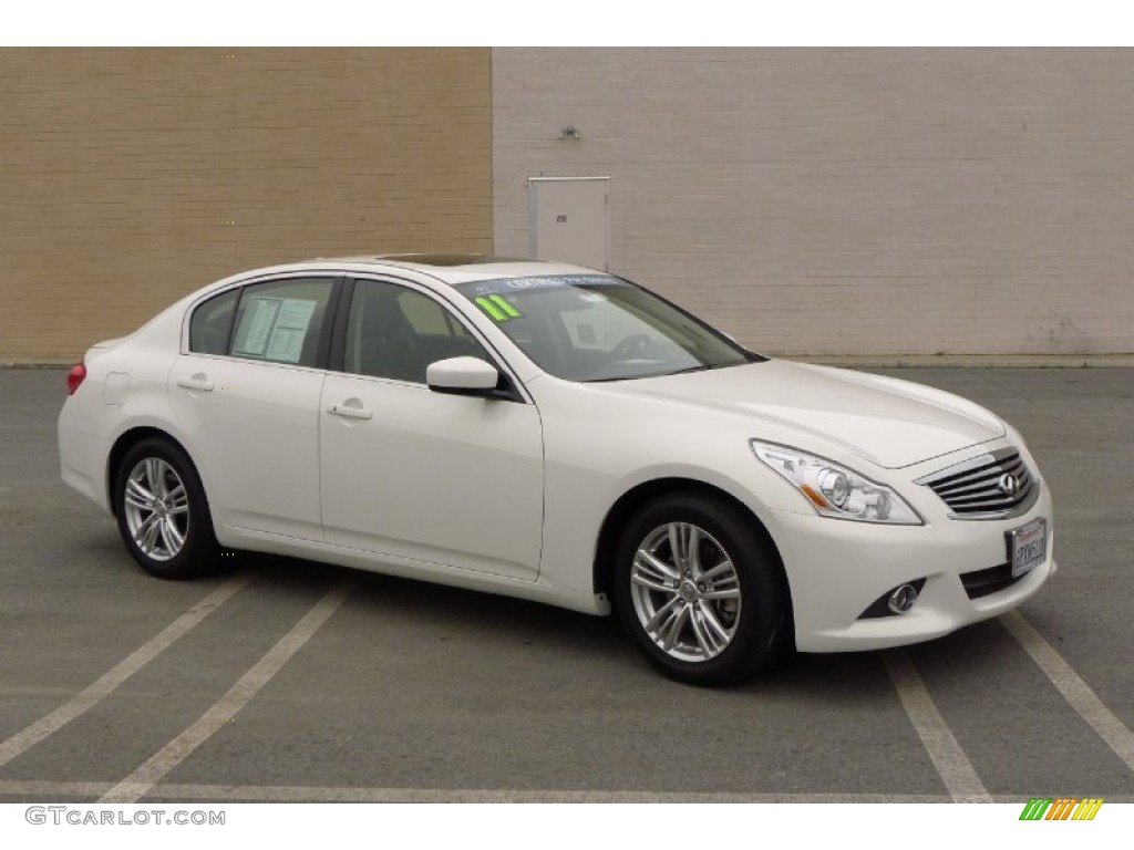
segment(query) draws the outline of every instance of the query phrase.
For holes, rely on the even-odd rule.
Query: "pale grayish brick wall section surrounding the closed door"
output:
[[[499,253],[527,250],[527,177],[609,175],[611,267],[761,350],[1134,351],[1134,51],[492,66]]]

